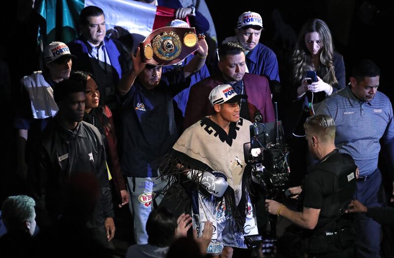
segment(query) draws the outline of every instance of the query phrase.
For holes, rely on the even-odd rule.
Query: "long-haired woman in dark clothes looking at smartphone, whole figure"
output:
[[[292,132],[287,136],[293,150],[289,159],[293,164],[291,169],[295,185],[301,183],[312,159],[308,154],[303,124],[314,115],[313,104],[345,87],[343,57],[333,49],[331,33],[324,21],[312,19],[303,25],[292,55],[293,86],[290,97],[294,103],[285,122],[287,131]]]

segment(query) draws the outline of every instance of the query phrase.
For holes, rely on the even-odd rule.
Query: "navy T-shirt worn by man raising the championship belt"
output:
[[[162,75],[160,83],[148,90],[135,80],[123,97],[122,171],[126,176],[156,177],[159,158],[178,139],[173,97],[189,87],[190,76],[174,70]]]

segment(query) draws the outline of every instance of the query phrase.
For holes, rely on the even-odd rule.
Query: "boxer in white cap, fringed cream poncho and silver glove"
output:
[[[213,222],[207,248],[213,256],[231,257],[232,248],[246,248],[244,234],[258,234],[247,183],[251,166],[243,153],[252,123],[239,116],[241,99],[246,97],[226,84],[212,89],[209,101],[215,114],[187,128],[161,167],[164,178],[175,182],[169,193],[185,189],[190,195],[192,201],[185,203],[185,209],[192,209],[197,236],[208,220]],[[173,196],[178,205],[182,203],[177,194]]]

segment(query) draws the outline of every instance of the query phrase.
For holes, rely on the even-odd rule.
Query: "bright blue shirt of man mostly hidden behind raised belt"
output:
[[[195,56],[190,55],[187,56],[182,64],[180,66],[185,66],[186,64],[188,64]],[[167,66],[163,66],[163,73],[164,72],[168,72],[168,71],[172,71],[175,68],[177,68],[178,65],[167,65]],[[188,103],[188,99],[189,99],[189,91],[190,91],[190,87],[197,84],[199,81],[201,81],[202,79],[205,79],[207,77],[209,77],[209,71],[208,71],[208,67],[206,67],[206,64],[204,64],[201,69],[199,69],[196,73],[192,74],[190,77],[190,86],[188,88],[185,88],[184,90],[182,90],[181,92],[179,92],[178,94],[175,95],[174,100],[176,102],[176,104],[178,105],[178,108],[182,111],[182,115],[183,117],[185,117],[185,110],[186,110],[186,104]]]

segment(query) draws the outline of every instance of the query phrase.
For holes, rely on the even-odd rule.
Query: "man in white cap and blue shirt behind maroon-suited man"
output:
[[[264,75],[269,81],[279,80],[278,60],[275,53],[259,43],[263,31],[263,19],[255,12],[244,12],[238,17],[234,37],[228,37],[224,42],[230,40],[239,41],[245,48],[247,73]],[[272,88],[271,88],[272,91]]]

